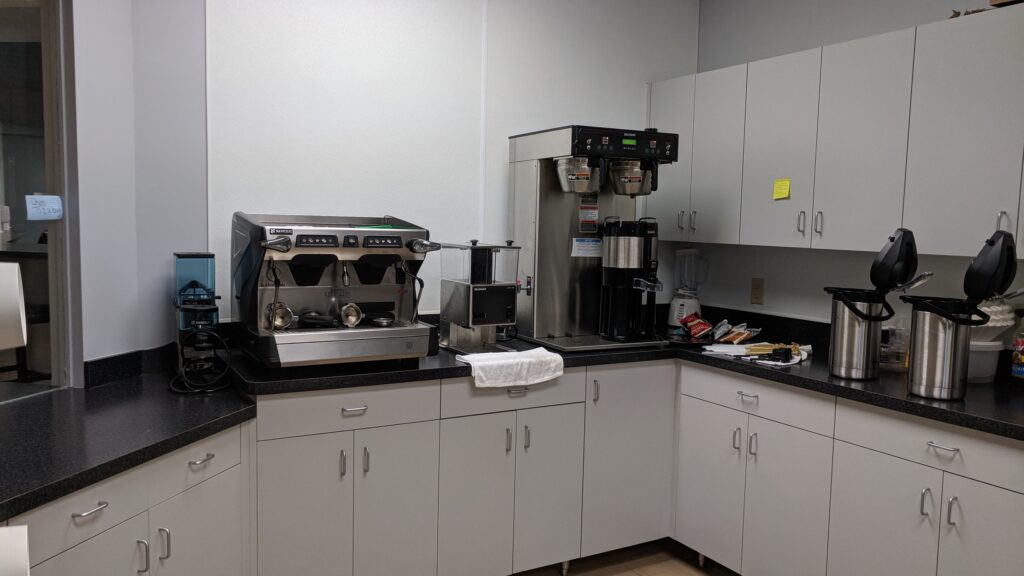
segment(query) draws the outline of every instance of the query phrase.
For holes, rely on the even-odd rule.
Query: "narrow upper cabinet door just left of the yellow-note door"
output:
[[[745,108],[745,64],[697,74],[688,217],[693,242],[739,242]]]

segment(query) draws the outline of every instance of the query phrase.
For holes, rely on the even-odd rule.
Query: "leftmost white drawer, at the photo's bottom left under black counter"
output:
[[[28,525],[29,559],[35,566],[147,507],[148,486],[136,468],[12,518],[10,525]]]

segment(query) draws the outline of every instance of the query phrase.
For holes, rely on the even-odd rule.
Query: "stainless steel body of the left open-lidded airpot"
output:
[[[865,316],[879,318],[882,302],[850,302]],[[841,299],[833,298],[828,370],[840,378],[867,380],[879,376],[882,322],[858,317]]]

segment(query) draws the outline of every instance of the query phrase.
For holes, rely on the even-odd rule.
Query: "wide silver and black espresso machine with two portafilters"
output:
[[[420,358],[430,234],[393,216],[236,212],[231,290],[243,347],[269,366]]]

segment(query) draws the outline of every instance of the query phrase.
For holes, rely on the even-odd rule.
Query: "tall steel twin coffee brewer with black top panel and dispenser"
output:
[[[657,225],[637,219],[637,197],[678,158],[678,134],[654,129],[574,125],[509,138],[520,338],[566,352],[664,343],[650,324]]]

